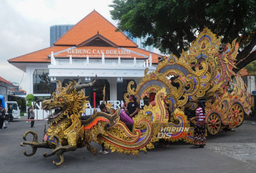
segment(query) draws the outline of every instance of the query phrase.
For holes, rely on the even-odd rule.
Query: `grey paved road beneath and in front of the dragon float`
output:
[[[64,155],[64,163],[56,167],[56,156],[44,158],[50,149],[38,148],[34,156],[26,157],[21,147],[23,134],[31,129],[25,117],[7,124],[0,131],[0,172],[255,172],[256,125],[252,121],[236,128],[236,132],[220,133],[207,138],[207,146],[189,149],[188,144],[171,144],[169,148],[156,148],[136,156],[109,153],[94,157],[86,148]],[[35,122],[33,130],[42,139],[45,122]],[[32,138],[28,138],[31,141]],[[100,145],[93,144],[98,149]]]

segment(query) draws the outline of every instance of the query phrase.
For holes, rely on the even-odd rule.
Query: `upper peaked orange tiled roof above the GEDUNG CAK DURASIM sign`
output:
[[[116,27],[110,21],[94,10],[60,37],[54,45],[77,46],[99,32],[100,35],[120,47],[138,47],[131,39],[126,38],[122,32],[116,32],[115,30]]]

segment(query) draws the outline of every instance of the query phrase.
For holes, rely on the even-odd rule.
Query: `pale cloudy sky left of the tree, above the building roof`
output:
[[[0,0],[0,76],[22,81],[26,90],[26,73],[7,60],[50,47],[50,26],[75,25],[94,9],[116,26],[110,4],[112,0]]]

